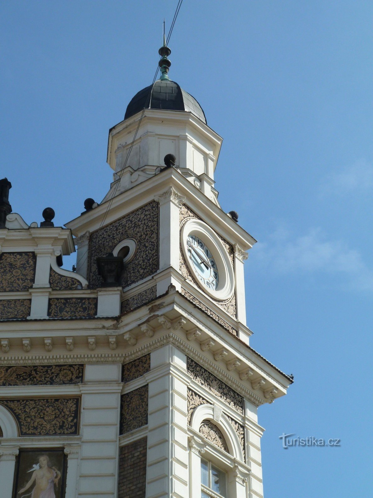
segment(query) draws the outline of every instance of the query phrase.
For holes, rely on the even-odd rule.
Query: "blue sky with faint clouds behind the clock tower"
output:
[[[108,129],[151,83],[176,4],[0,3],[0,176],[26,222],[102,199]],[[170,41],[170,78],[224,138],[222,208],[259,241],[251,344],[295,377],[259,410],[267,498],[371,494],[372,15],[359,0],[184,0]],[[282,432],[341,446],[284,450]]]

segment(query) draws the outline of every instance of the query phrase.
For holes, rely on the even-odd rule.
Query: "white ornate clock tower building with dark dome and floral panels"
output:
[[[0,322],[0,454],[13,452],[0,476],[14,473],[4,498],[27,486],[30,452],[52,450],[61,453],[61,497],[263,497],[257,412],[292,379],[250,345],[244,262],[256,241],[218,202],[222,138],[169,79],[171,50],[159,53],[161,78],[109,130],[113,181],[103,200],[87,199],[66,229],[14,214],[0,228],[6,324],[9,289],[19,287],[9,261],[22,253],[24,268],[34,265],[16,296],[29,301],[24,318]],[[68,272],[59,258],[74,244]],[[20,366],[36,375],[28,391]],[[48,434],[24,421],[35,399],[45,399],[40,427],[54,422]],[[75,400],[71,430],[61,399]]]

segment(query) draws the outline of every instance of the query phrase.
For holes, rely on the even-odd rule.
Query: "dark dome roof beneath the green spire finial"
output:
[[[150,99],[148,96],[150,94]],[[153,85],[140,90],[127,106],[124,119],[146,109],[166,111],[187,111],[207,124],[206,117],[198,102],[171,80],[157,80]]]

